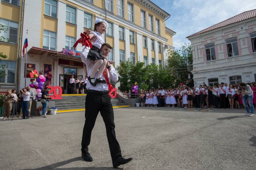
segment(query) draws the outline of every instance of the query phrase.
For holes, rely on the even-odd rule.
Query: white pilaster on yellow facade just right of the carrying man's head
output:
[[[115,67],[119,66],[119,29],[118,24],[114,23],[114,62]]]

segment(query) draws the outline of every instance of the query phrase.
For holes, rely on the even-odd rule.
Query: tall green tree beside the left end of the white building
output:
[[[170,70],[170,74],[175,78],[174,86],[178,86],[180,83],[185,83],[193,87],[193,79],[188,79],[188,74],[191,78],[193,75],[187,70],[187,65],[193,63],[193,56],[191,50],[191,44],[183,44],[179,50],[169,50],[167,59],[167,68]]]

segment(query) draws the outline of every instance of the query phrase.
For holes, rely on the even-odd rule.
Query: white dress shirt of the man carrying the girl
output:
[[[90,47],[85,47],[83,48],[83,51],[81,52],[81,59],[82,59],[82,62],[86,65],[86,70],[87,70],[87,75],[90,76],[91,75],[91,71],[93,70],[93,61],[91,61],[90,59],[87,58],[87,55],[90,51]],[[110,82],[110,79],[113,80],[114,82],[117,82],[118,81],[118,75],[116,73],[116,70],[115,68],[110,65],[111,67],[111,70],[109,71],[108,70],[108,78],[109,78],[109,82]],[[97,78],[97,75],[98,75],[98,71],[96,72],[95,74],[95,80]],[[105,77],[101,76],[102,80],[106,80]],[[97,90],[97,91],[106,91],[108,90],[109,86],[108,84],[103,84],[103,83],[97,83],[96,86],[92,86],[90,82],[87,83],[86,85],[86,88],[88,90]]]

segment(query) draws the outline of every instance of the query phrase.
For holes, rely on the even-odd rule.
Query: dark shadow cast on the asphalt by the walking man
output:
[[[52,165],[47,165],[35,169],[23,169],[23,170],[49,170],[49,169],[57,169],[57,170],[110,170],[114,169],[113,167],[69,167],[69,168],[58,168],[60,166],[69,164],[75,161],[83,161],[82,157],[76,157],[72,159],[68,159],[67,161],[53,163]],[[123,170],[123,168],[116,168],[119,170]]]

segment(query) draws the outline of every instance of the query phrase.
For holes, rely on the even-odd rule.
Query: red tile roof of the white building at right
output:
[[[225,21],[222,21],[218,24],[215,24],[215,25],[212,25],[211,27],[203,29],[202,31],[199,31],[197,33],[189,35],[188,37],[198,35],[200,33],[204,33],[204,32],[207,32],[207,31],[211,31],[213,29],[217,29],[217,28],[220,28],[220,27],[224,27],[224,26],[229,25],[229,24],[237,23],[239,21],[246,20],[246,19],[249,19],[249,18],[252,18],[252,17],[255,17],[255,16],[256,16],[256,9],[252,9],[250,11],[245,11],[245,12],[242,12],[242,13],[236,15],[236,16],[233,16],[233,17],[231,17],[231,18],[229,18]]]

